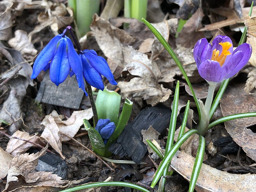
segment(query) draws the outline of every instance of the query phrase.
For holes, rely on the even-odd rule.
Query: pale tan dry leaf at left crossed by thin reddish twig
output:
[[[23,131],[19,131],[19,130],[16,131],[15,133],[13,133],[12,137],[19,137],[21,139],[32,141],[34,143],[37,143],[37,141],[39,140],[37,133],[29,135],[28,132],[23,132]],[[35,145],[33,145],[32,143],[23,141],[23,140],[12,138],[7,143],[6,152],[10,153],[13,156],[18,156],[18,155],[25,153],[32,146],[35,146]]]

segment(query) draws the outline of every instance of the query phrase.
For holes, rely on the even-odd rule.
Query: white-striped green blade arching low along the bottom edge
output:
[[[78,191],[81,189],[87,189],[87,188],[93,188],[93,187],[103,187],[103,186],[120,186],[120,187],[129,187],[133,189],[140,190],[142,192],[150,192],[148,189],[143,188],[139,185],[133,184],[133,183],[126,183],[121,181],[107,181],[107,182],[96,182],[96,183],[90,183],[85,185],[80,185],[73,188],[68,188],[59,192],[72,192],[72,191]]]

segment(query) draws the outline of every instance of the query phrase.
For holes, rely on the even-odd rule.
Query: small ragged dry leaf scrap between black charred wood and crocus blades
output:
[[[154,150],[148,145],[147,139],[150,141],[155,140],[158,144],[160,144],[160,140],[158,139],[158,137],[161,134],[150,125],[147,130],[141,130],[141,135],[143,137],[143,143],[145,143],[148,148],[148,153],[153,153]]]

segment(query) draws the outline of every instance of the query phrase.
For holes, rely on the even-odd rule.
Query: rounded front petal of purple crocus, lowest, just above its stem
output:
[[[205,60],[198,67],[198,73],[207,81],[220,82],[223,79],[222,68],[219,62],[213,60]]]

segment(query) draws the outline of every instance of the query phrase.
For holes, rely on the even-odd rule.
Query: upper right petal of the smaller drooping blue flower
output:
[[[87,52],[85,51],[84,55],[87,58],[87,60],[90,62],[92,67],[96,69],[96,71],[98,71],[101,75],[105,76],[108,79],[109,83],[113,85],[117,85],[114,79],[114,76],[108,66],[108,63],[104,58],[100,56],[96,56],[92,52],[88,52],[88,51]]]

